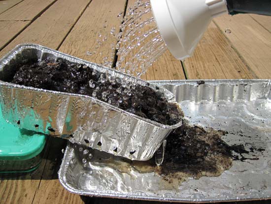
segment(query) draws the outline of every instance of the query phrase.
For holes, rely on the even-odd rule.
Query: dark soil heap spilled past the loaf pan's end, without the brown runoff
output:
[[[228,145],[221,139],[225,134],[225,131],[203,129],[183,121],[183,125],[167,138],[164,162],[158,168],[158,174],[169,182],[176,179],[182,182],[188,177],[219,176],[232,166],[233,160],[257,160],[257,157],[248,159],[245,155],[251,157],[254,151],[265,151],[261,148],[246,150],[240,144]]]

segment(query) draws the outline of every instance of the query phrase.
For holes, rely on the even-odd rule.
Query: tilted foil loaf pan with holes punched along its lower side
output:
[[[63,58],[99,72],[108,72],[122,80],[127,79],[154,89],[156,87],[152,83],[47,47],[21,44],[0,60],[0,102],[6,121],[20,128],[66,138],[72,143],[141,161],[152,158],[170,131],[181,125],[181,122],[170,126],[144,119],[86,95],[8,82],[17,71],[17,65],[24,60],[48,58]],[[160,88],[157,91],[161,91],[169,101],[175,100],[167,89]]]

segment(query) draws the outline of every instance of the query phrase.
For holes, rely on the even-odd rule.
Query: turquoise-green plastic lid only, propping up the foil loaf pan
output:
[[[29,160],[41,153],[46,136],[21,130],[3,119],[0,108],[0,160]]]

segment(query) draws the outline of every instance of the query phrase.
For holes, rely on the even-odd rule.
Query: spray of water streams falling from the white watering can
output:
[[[139,78],[167,49],[152,16],[150,2],[137,0],[128,9],[120,29],[116,69]]]

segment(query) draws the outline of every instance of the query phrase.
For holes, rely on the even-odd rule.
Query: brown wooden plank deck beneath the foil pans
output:
[[[98,32],[119,28],[117,14],[135,0],[0,0],[0,57],[15,45],[32,42],[96,63]],[[104,27],[106,24],[106,28]],[[231,33],[226,33],[230,29]],[[97,52],[108,56],[114,38]],[[144,80],[271,79],[271,17],[224,15],[209,26],[193,57],[185,62],[166,52]],[[68,193],[58,181],[66,141],[50,138],[39,168],[26,175],[0,176],[0,204],[151,204],[154,202],[88,198]],[[271,201],[240,202],[268,204]]]

